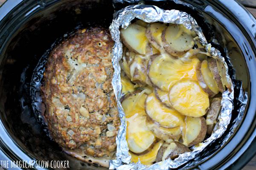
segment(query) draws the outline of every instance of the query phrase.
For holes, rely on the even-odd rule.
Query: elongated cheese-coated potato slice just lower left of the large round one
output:
[[[148,95],[145,102],[145,112],[162,127],[177,127],[183,125],[183,118],[179,112],[167,108],[158,101],[154,93]]]

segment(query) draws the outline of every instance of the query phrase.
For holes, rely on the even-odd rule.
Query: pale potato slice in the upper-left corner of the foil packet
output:
[[[145,31],[145,27],[133,23],[126,29],[122,28],[120,36],[127,48],[137,54],[145,55],[148,48],[148,39],[145,36]]]

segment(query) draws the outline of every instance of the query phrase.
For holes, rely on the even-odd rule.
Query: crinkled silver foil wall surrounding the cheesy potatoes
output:
[[[180,154],[175,160],[167,159],[165,161],[157,162],[151,166],[146,166],[138,161],[137,163],[131,162],[131,156],[128,154],[128,145],[125,140],[126,135],[126,122],[125,122],[125,113],[122,109],[122,105],[120,99],[122,97],[122,84],[120,79],[120,65],[119,61],[122,58],[122,42],[120,40],[120,28],[127,28],[132,20],[138,18],[143,20],[147,23],[153,22],[163,22],[163,23],[174,23],[174,24],[183,24],[187,29],[195,31],[198,35],[198,41],[204,45],[207,52],[214,57],[218,58],[220,61],[224,63],[226,69],[226,77],[227,80],[230,82],[230,89],[224,91],[222,94],[221,100],[221,113],[219,114],[218,121],[215,125],[215,128],[212,132],[212,135],[204,140],[199,146],[193,146],[191,148],[191,152],[186,152]],[[177,168],[181,165],[184,165],[182,169],[187,169],[191,166],[195,166],[199,161],[197,161],[198,154],[202,151],[207,149],[206,147],[209,146],[213,141],[220,138],[224,132],[227,130],[228,125],[232,125],[229,129],[229,133],[225,136],[225,139],[222,141],[221,146],[224,145],[230,136],[233,135],[236,127],[238,127],[239,123],[242,120],[244,115],[245,107],[247,104],[247,93],[244,93],[241,82],[234,83],[228,74],[228,66],[224,60],[224,57],[221,56],[220,51],[212,47],[204,37],[201,28],[198,26],[197,22],[192,18],[189,14],[183,11],[178,11],[175,9],[172,10],[163,10],[158,8],[157,6],[149,6],[149,5],[132,5],[127,6],[119,11],[114,13],[114,19],[110,26],[110,32],[113,40],[115,41],[115,45],[113,48],[113,80],[112,85],[114,89],[114,93],[116,95],[117,106],[119,111],[119,116],[121,119],[121,126],[119,129],[119,133],[116,137],[116,159],[110,161],[109,169],[117,169],[117,170],[168,170],[170,168]],[[226,56],[227,59],[228,56]],[[239,84],[239,85],[236,85]],[[232,111],[234,108],[234,87],[239,88],[240,91],[237,102],[239,103],[239,114],[236,117],[234,123],[230,122]],[[233,123],[233,124],[232,124]],[[207,159],[204,157],[202,160]],[[193,160],[193,161],[190,161]],[[188,163],[189,162],[189,163]]]

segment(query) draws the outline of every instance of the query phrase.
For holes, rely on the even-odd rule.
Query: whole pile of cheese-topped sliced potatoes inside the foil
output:
[[[121,29],[122,107],[131,161],[175,159],[212,133],[221,109],[221,99],[212,97],[230,85],[222,62],[196,36],[183,25],[142,20]]]

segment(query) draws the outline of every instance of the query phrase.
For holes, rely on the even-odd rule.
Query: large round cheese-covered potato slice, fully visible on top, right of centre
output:
[[[209,108],[209,97],[198,82],[181,80],[169,91],[172,108],[185,116],[204,116]]]

